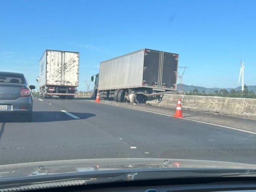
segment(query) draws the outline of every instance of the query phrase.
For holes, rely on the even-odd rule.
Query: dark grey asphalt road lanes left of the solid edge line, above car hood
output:
[[[256,164],[256,135],[92,100],[34,100],[33,122],[0,116],[0,164],[179,158]]]

